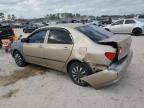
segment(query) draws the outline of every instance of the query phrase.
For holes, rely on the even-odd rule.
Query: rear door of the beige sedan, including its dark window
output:
[[[44,56],[48,67],[61,70],[71,55],[73,42],[68,30],[51,28],[47,44],[44,46]]]

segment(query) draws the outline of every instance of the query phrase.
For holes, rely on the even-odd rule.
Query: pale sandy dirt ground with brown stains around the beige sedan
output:
[[[36,65],[19,68],[0,50],[0,108],[143,108],[144,36],[132,38],[134,57],[123,79],[99,90]]]

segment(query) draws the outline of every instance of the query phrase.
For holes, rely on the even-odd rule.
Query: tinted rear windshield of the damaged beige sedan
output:
[[[89,37],[94,42],[102,41],[109,38],[113,34],[102,27],[95,25],[85,25],[76,28],[78,31]]]

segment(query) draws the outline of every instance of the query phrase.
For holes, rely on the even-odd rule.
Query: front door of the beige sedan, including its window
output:
[[[47,30],[38,30],[27,38],[23,44],[23,54],[26,61],[44,65],[44,41]]]

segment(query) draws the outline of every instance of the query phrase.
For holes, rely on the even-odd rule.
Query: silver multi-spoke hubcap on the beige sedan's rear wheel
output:
[[[73,67],[72,69],[72,77],[73,79],[79,83],[79,84],[83,84],[84,81],[82,81],[80,78],[86,76],[86,70],[83,67]]]

